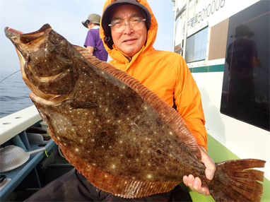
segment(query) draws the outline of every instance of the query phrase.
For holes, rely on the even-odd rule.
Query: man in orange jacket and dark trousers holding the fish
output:
[[[158,24],[146,0],[140,3],[133,0],[108,0],[104,8],[100,37],[112,57],[110,63],[127,71],[169,105],[177,108],[201,145],[206,177],[212,179],[216,167],[205,151],[206,129],[201,97],[184,59],[179,54],[153,49]],[[189,175],[183,180],[193,191],[210,194],[209,189],[201,187],[198,177]],[[172,191],[169,191],[142,198],[120,198],[95,188],[74,169],[27,201],[168,202],[172,195]]]

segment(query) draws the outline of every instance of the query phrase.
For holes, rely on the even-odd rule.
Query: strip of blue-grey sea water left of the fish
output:
[[[31,91],[25,85],[20,71],[12,73],[0,71],[0,118],[33,105],[29,97]]]

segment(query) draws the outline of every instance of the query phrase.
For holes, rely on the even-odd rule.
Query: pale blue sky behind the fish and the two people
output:
[[[105,1],[64,1],[64,0],[0,0],[0,71],[15,72],[20,63],[15,48],[4,34],[9,27],[21,32],[34,32],[49,23],[52,29],[66,38],[71,44],[83,47],[88,29],[81,21],[90,13],[102,14]],[[172,51],[174,12],[171,0],[149,0],[149,5],[158,20],[158,35],[155,49]]]

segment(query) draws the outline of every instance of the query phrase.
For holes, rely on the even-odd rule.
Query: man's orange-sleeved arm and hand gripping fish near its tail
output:
[[[187,68],[184,59],[180,61],[180,66],[177,72],[177,83],[175,85],[175,105],[177,111],[182,115],[201,150],[201,162],[206,166],[206,178],[213,179],[213,174],[216,171],[216,165],[206,153],[207,133],[204,126],[204,111],[201,105],[201,94],[196,86],[194,78]],[[192,174],[183,177],[183,182],[189,186],[192,191],[197,191],[199,194],[206,196],[210,195],[209,189],[201,186],[201,179],[194,177]]]

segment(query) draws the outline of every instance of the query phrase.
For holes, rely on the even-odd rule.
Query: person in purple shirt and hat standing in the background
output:
[[[107,61],[108,53],[105,50],[102,40],[100,39],[100,16],[98,14],[90,14],[86,21],[81,22],[83,26],[88,28],[86,42],[84,47],[89,50],[90,54],[102,61]]]

